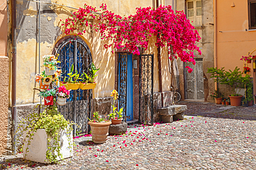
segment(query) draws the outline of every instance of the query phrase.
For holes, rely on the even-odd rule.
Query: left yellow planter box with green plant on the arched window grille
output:
[[[66,87],[66,89],[79,89],[80,77],[79,77],[79,74],[77,73],[77,71],[75,71],[75,73],[73,73],[73,70],[74,70],[74,65],[71,65],[71,70],[67,74],[68,77],[65,76],[64,81],[60,82],[60,86],[64,85]]]

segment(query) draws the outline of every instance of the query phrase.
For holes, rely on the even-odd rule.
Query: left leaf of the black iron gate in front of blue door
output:
[[[123,108],[123,117],[126,122],[127,119],[127,53],[119,53],[119,108]]]

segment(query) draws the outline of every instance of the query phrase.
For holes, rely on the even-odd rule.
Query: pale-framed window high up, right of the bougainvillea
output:
[[[194,26],[202,25],[202,3],[201,1],[188,0],[187,1],[187,18]]]

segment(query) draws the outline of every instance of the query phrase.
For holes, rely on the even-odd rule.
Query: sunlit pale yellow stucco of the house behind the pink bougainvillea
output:
[[[52,1],[55,3],[55,1]],[[107,8],[116,14],[120,14],[121,16],[129,14],[134,14],[136,12],[137,7],[147,7],[152,6],[152,1],[137,1],[137,0],[129,0],[129,1],[116,1],[113,3],[111,0],[102,0],[102,1],[68,1],[68,0],[60,0],[57,1],[59,4],[63,4],[65,6],[72,6],[74,8],[80,8],[84,6],[84,3],[95,6],[99,8],[102,3],[107,3]],[[32,4],[32,3],[31,3]],[[35,5],[35,4],[34,4]],[[32,9],[30,6],[28,9]],[[53,51],[53,47],[58,40],[62,39],[64,36],[64,28],[61,26],[60,19],[64,20],[68,17],[70,12],[74,12],[75,10],[71,8],[65,8],[57,6],[51,7],[54,8],[57,17],[55,19],[48,19],[51,21],[53,19],[54,26],[58,26],[61,28],[62,34],[56,38],[53,43],[42,42],[41,43],[41,61],[42,56],[45,54],[51,54]],[[30,14],[24,10],[24,16],[27,17],[35,17],[34,14]],[[30,16],[31,15],[31,16]],[[42,16],[43,17],[43,16]],[[44,16],[45,17],[45,16]],[[47,17],[47,16],[46,16]],[[42,30],[44,31],[44,30]],[[49,35],[50,36],[50,35]],[[98,85],[93,89],[93,98],[101,98],[108,97],[111,91],[114,88],[114,80],[115,80],[115,72],[114,72],[114,54],[111,53],[113,49],[105,50],[103,45],[104,41],[100,39],[98,33],[86,33],[82,36],[82,39],[89,45],[91,50],[93,63],[95,63],[96,67],[100,67],[100,70],[97,72],[98,76],[95,78],[95,82]],[[145,52],[145,54],[154,53],[154,92],[159,92],[158,85],[158,59],[157,59],[157,48],[154,45],[155,38],[150,39],[149,49]],[[38,44],[35,39],[28,39],[28,41],[17,43],[17,105],[27,104],[27,103],[36,103],[39,102],[39,98],[37,93],[33,92],[33,87],[38,87],[38,83],[35,84],[34,76],[38,73]],[[170,86],[170,75],[167,68],[167,53],[162,50],[162,78],[163,78],[163,91],[169,89]],[[41,67],[41,71],[44,68]]]

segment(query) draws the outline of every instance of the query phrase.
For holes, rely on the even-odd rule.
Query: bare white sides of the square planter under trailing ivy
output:
[[[24,138],[26,137],[27,131],[24,132]],[[28,153],[26,155],[26,160],[32,160],[34,162],[40,163],[51,163],[49,160],[46,160],[46,151],[47,151],[47,134],[45,129],[38,129],[37,132],[34,133],[33,140],[31,140],[30,145],[28,145],[28,139],[24,143],[24,153],[23,158],[25,158],[26,148],[28,145]],[[68,141],[68,136],[71,139]],[[71,145],[69,145],[71,143]],[[59,156],[57,160],[62,160],[65,158],[70,158],[73,156],[73,135],[72,131],[70,134],[66,134],[66,131],[60,131],[60,153],[62,153],[62,158]],[[57,152],[55,151],[57,155]]]

